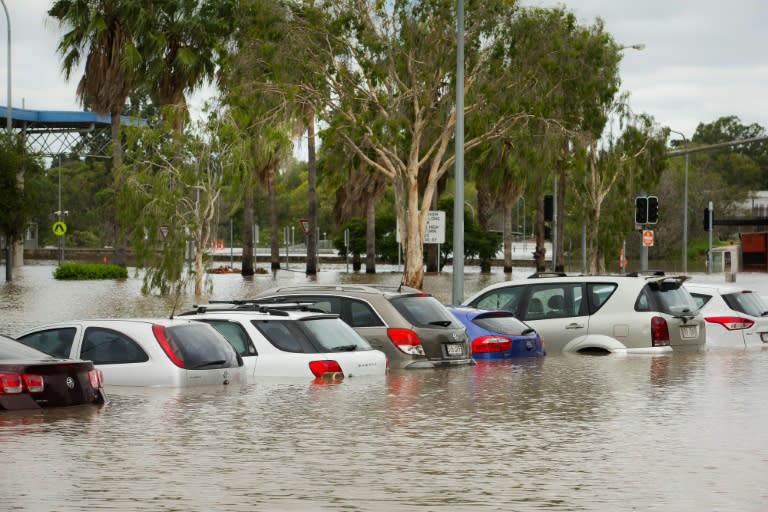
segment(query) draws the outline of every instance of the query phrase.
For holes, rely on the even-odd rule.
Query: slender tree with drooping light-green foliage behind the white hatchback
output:
[[[125,182],[118,207],[131,221],[137,270],[145,271],[144,293],[180,291],[188,250],[195,295],[209,289],[206,264],[217,204],[242,167],[245,148],[238,127],[222,112],[195,128],[181,138],[175,126],[161,121],[127,130],[129,163],[118,170]]]

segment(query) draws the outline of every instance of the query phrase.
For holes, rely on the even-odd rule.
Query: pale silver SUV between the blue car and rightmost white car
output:
[[[534,274],[490,285],[463,305],[511,311],[541,335],[547,354],[698,350],[705,323],[683,280],[659,272]]]

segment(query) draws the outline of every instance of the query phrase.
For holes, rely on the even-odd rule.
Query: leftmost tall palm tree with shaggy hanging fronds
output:
[[[146,20],[142,2],[56,0],[48,10],[64,29],[58,44],[61,68],[69,80],[85,61],[77,97],[83,107],[109,114],[112,164],[122,165],[120,116],[142,64],[135,45],[137,27]],[[120,183],[115,182],[119,191]],[[123,226],[115,222],[116,263],[126,264]]]

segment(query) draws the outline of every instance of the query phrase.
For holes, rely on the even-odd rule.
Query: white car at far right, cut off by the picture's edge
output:
[[[685,288],[707,322],[707,346],[768,346],[768,306],[752,290],[734,285],[687,281]]]

